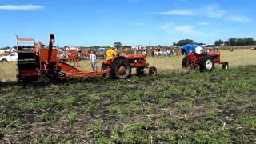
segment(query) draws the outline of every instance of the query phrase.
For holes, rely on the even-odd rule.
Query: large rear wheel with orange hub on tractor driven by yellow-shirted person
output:
[[[123,58],[116,59],[111,66],[111,74],[113,78],[126,79],[130,77],[130,65]]]

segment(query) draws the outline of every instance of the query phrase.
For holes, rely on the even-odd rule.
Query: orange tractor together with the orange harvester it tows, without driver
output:
[[[20,46],[22,42],[32,42],[33,46]],[[70,77],[101,77],[111,74],[114,78],[129,78],[131,68],[137,68],[138,74],[143,74],[149,68],[149,74],[156,74],[155,67],[148,67],[146,55],[127,55],[117,57],[101,71],[79,70],[57,58],[58,51],[54,49],[54,34],[50,34],[49,46],[35,44],[34,38],[17,38],[18,45],[18,74],[19,82],[37,80],[45,75],[50,80],[62,80]]]

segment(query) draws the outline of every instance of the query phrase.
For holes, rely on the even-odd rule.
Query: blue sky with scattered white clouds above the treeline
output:
[[[256,38],[254,0],[0,0],[0,46],[15,34],[58,46],[171,45]]]

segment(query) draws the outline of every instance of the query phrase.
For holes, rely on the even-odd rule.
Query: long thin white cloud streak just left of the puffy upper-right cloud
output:
[[[170,10],[166,12],[155,12],[150,14],[162,14],[162,15],[197,15],[195,10],[184,9],[184,10]]]

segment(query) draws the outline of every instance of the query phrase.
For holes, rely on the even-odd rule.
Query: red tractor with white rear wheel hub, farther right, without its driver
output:
[[[183,51],[186,51],[183,49]],[[222,64],[222,69],[229,68],[228,62],[221,62],[220,52],[218,50],[202,50],[201,54],[192,52],[187,54],[182,60],[183,68],[197,69],[201,72],[214,70],[214,64]]]

